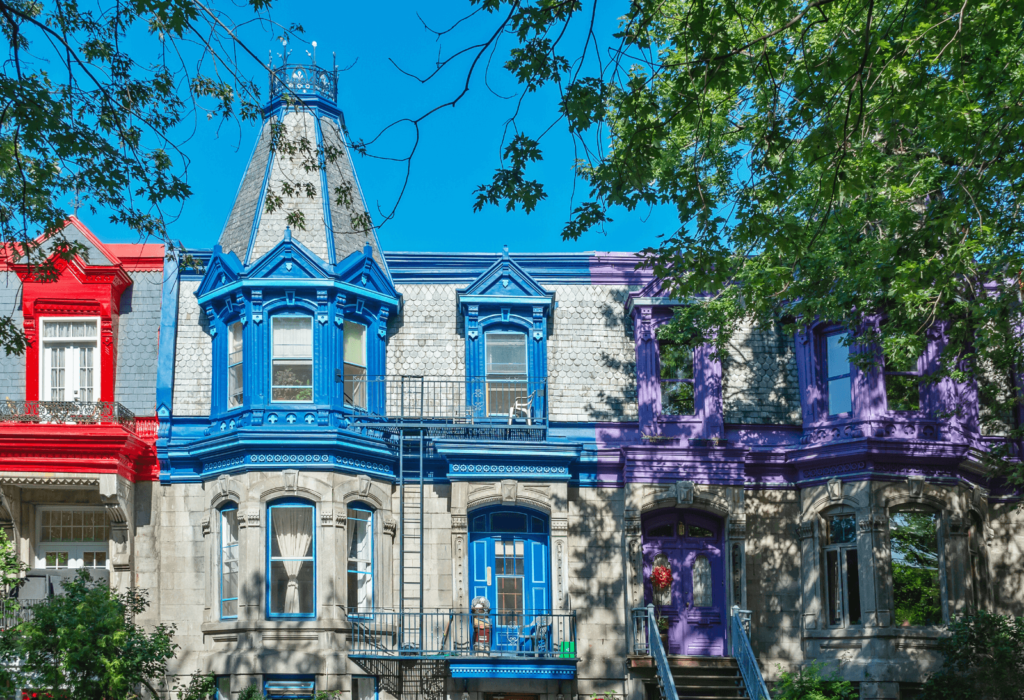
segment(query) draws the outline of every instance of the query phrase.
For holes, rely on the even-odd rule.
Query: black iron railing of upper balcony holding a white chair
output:
[[[542,427],[548,420],[545,379],[346,375],[344,382],[346,404],[387,421]]]

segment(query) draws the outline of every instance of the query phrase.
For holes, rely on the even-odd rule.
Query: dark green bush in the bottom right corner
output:
[[[942,668],[919,700],[1024,700],[1024,617],[979,611],[949,624]]]

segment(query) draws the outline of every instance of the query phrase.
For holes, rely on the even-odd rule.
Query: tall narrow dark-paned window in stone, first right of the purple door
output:
[[[824,517],[825,605],[829,627],[863,624],[860,614],[860,567],[857,519],[840,510]]]

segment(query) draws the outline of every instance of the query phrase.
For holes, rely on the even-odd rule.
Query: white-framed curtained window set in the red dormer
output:
[[[41,399],[99,400],[99,320],[44,318]]]

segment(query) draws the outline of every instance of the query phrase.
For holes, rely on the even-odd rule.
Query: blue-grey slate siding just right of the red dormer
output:
[[[163,272],[131,272],[121,298],[114,398],[136,415],[153,415],[157,403],[157,344]]]

